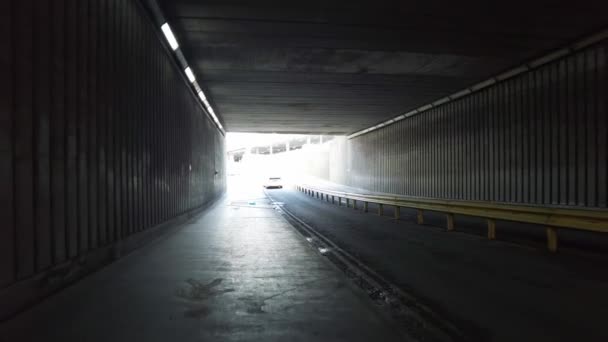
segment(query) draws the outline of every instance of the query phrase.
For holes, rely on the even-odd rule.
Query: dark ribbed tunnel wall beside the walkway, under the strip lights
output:
[[[137,1],[0,6],[0,289],[223,192],[224,137]]]

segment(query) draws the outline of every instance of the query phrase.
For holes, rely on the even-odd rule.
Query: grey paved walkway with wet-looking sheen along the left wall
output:
[[[0,325],[0,341],[393,341],[260,190]]]

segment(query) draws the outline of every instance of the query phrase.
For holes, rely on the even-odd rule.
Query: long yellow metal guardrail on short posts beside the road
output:
[[[368,211],[368,203],[378,205],[378,214],[382,215],[384,205],[395,208],[395,219],[401,216],[400,208],[413,208],[417,210],[418,224],[424,223],[424,211],[445,213],[447,216],[447,230],[454,230],[454,215],[466,215],[485,218],[488,226],[488,239],[496,238],[496,220],[513,221],[538,224],[546,227],[547,247],[550,251],[557,250],[559,228],[577,229],[591,232],[608,233],[608,211],[600,209],[570,209],[538,207],[527,205],[514,205],[494,202],[457,201],[422,199],[401,196],[364,195],[350,192],[319,189],[309,185],[297,185],[299,191],[316,196],[320,199],[350,207],[351,201],[354,209],[357,202],[363,205],[363,211]],[[331,199],[330,199],[331,196]]]

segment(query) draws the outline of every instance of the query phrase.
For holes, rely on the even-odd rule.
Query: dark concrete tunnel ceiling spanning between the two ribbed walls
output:
[[[605,23],[602,1],[159,2],[227,130],[249,132],[352,133]]]

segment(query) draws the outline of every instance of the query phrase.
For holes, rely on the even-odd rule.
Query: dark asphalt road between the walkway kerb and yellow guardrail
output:
[[[551,254],[534,244],[417,225],[407,211],[395,221],[390,212],[363,213],[293,189],[267,193],[475,339],[608,341],[605,255]]]

